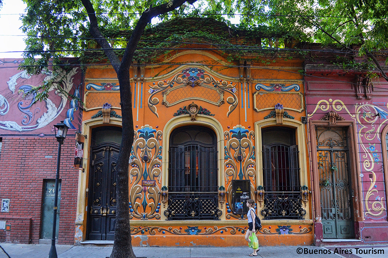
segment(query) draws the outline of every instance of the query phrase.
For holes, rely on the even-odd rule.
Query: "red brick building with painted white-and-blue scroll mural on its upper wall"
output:
[[[21,62],[0,61],[0,221],[6,225],[0,230],[0,242],[39,243],[40,239],[51,239],[58,155],[53,126],[65,121],[70,129],[62,145],[57,225],[60,243],[72,244],[79,174],[72,166],[80,113],[75,102],[54,91],[49,93],[50,100],[31,105],[34,96],[23,94],[47,79],[50,72],[30,76],[18,70]],[[61,85],[76,95],[80,84],[80,68],[74,68]]]

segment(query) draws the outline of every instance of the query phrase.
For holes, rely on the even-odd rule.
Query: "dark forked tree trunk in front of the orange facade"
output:
[[[133,30],[127,48],[120,61],[109,45],[108,40],[102,35],[98,28],[98,21],[93,4],[90,0],[81,0],[90,20],[90,33],[97,43],[104,48],[104,52],[111,62],[117,74],[120,85],[120,105],[122,116],[122,138],[117,159],[116,170],[116,225],[114,227],[114,243],[110,258],[136,258],[132,250],[129,222],[129,156],[132,150],[134,130],[132,115],[132,93],[130,88],[129,67],[132,63],[136,46],[143,34],[147,24],[155,16],[172,11],[188,1],[194,3],[196,0],[172,0],[168,3],[150,7],[143,12]]]

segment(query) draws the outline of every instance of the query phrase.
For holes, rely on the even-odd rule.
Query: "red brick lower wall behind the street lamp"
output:
[[[60,244],[74,243],[78,191],[78,170],[71,168],[74,138],[68,135],[62,145]],[[54,136],[2,137],[0,199],[10,199],[10,211],[1,212],[0,220],[6,220],[11,231],[0,230],[0,242],[39,242],[43,182],[55,179],[57,155],[58,142]],[[30,232],[29,240],[25,232]]]

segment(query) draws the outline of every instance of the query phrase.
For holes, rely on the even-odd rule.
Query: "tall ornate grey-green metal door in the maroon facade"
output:
[[[316,128],[323,238],[354,238],[346,128]]]

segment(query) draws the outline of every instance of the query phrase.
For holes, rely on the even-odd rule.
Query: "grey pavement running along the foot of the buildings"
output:
[[[0,258],[47,258],[49,244],[0,243]],[[358,248],[358,249],[357,249]],[[112,246],[56,245],[58,258],[107,258]],[[249,247],[133,247],[140,258],[245,258]],[[384,258],[388,245],[368,246],[263,246],[258,258]]]

